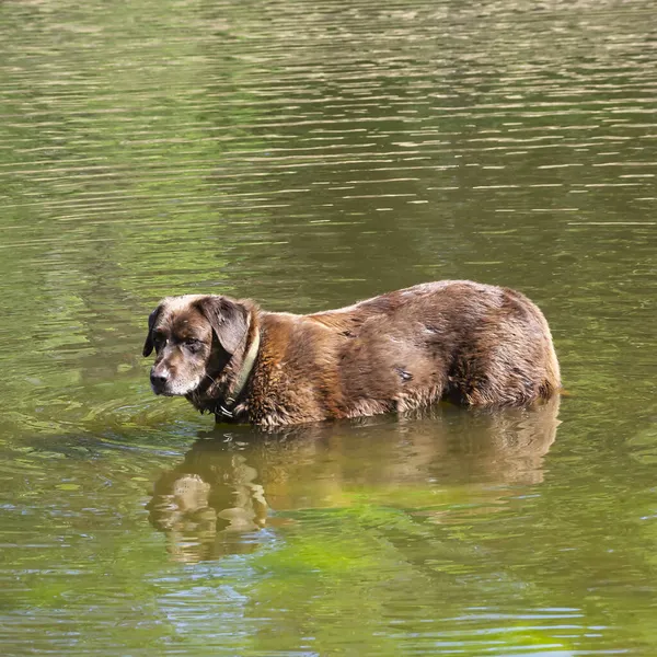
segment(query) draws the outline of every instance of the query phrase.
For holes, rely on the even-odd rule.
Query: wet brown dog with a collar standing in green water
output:
[[[469,280],[389,292],[310,315],[253,301],[169,297],[143,355],[155,394],[218,422],[289,425],[404,412],[440,399],[520,406],[551,397],[560,371],[548,322],[523,295]]]

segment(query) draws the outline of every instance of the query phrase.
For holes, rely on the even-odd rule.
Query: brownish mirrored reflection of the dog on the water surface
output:
[[[557,413],[555,399],[532,410],[439,406],[268,434],[218,425],[161,475],[149,518],[174,558],[197,562],[251,552],[265,527],[291,522],[285,511],[348,506],[364,489],[394,504],[410,487],[468,486],[493,503],[499,484],[541,483]]]

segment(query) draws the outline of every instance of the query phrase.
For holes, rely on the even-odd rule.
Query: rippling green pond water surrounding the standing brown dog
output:
[[[652,2],[0,7],[5,655],[657,653]],[[568,396],[262,436],[157,300],[521,289]]]

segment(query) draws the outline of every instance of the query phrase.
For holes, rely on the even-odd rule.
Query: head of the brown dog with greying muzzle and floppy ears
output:
[[[155,394],[186,395],[216,378],[245,342],[247,308],[215,295],[168,297],[148,319],[143,355],[155,350]]]

